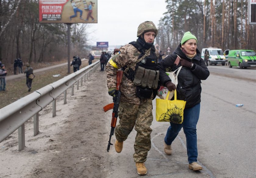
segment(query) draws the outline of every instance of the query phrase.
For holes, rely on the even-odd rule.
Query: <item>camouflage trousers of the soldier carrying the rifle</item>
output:
[[[120,102],[119,123],[115,129],[116,139],[123,142],[134,129],[137,131],[134,143],[133,159],[135,162],[144,163],[147,160],[148,151],[151,148],[150,128],[153,121],[152,100],[148,99],[144,104],[137,105]]]

